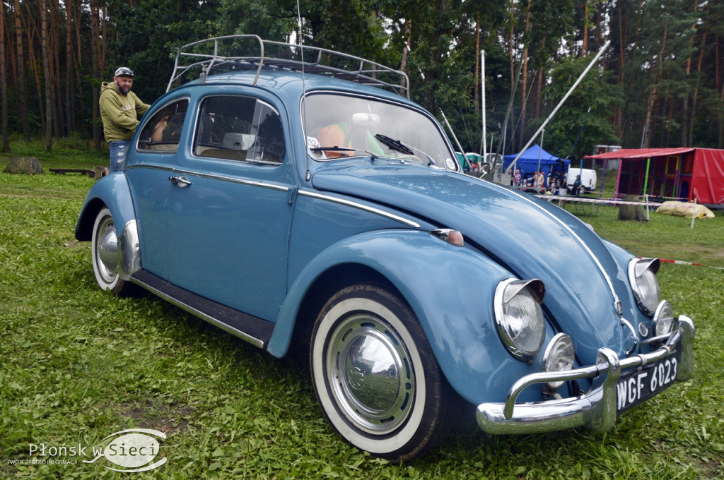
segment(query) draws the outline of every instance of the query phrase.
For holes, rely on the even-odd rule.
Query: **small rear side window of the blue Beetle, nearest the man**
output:
[[[175,152],[179,147],[179,139],[183,121],[188,109],[188,98],[178,100],[162,107],[153,114],[143,126],[138,137],[138,150]]]

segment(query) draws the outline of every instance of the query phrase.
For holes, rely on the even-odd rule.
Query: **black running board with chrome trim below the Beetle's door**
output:
[[[175,286],[146,270],[136,271],[130,279],[136,285],[146,288],[170,304],[236,335],[253,346],[266,349],[266,345],[269,343],[271,332],[274,330],[272,322],[224,307],[216,301]]]

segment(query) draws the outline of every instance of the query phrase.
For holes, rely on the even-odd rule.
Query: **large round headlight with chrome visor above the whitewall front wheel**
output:
[[[502,343],[519,360],[538,354],[545,338],[541,302],[545,286],[541,280],[500,282],[495,289],[495,322]]]

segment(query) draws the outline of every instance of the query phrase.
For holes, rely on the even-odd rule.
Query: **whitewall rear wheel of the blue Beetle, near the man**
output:
[[[102,290],[111,291],[118,296],[127,296],[135,291],[135,285],[122,280],[119,275],[118,237],[113,216],[108,208],[98,212],[93,223],[91,239],[93,255],[93,274]]]

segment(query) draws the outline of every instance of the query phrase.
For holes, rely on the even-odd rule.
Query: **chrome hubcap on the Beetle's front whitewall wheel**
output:
[[[369,314],[355,314],[334,330],[327,352],[337,404],[350,421],[384,434],[402,424],[415,395],[408,351],[397,334]]]

